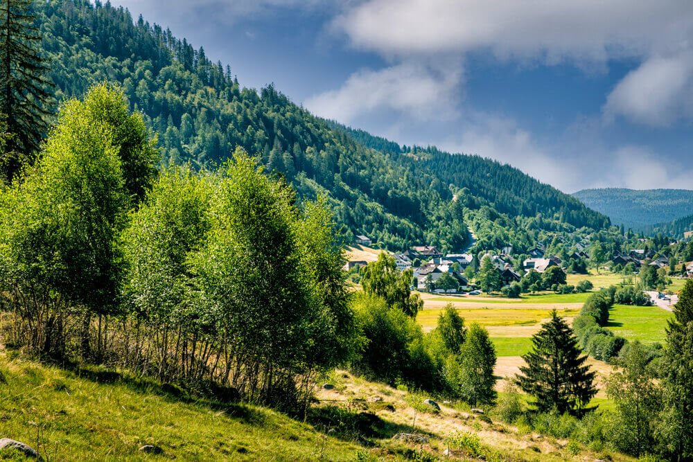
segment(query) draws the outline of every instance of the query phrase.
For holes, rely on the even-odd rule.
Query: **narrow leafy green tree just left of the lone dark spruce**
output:
[[[489,332],[473,323],[459,350],[460,384],[462,399],[471,405],[492,405],[495,402],[495,347]]]

